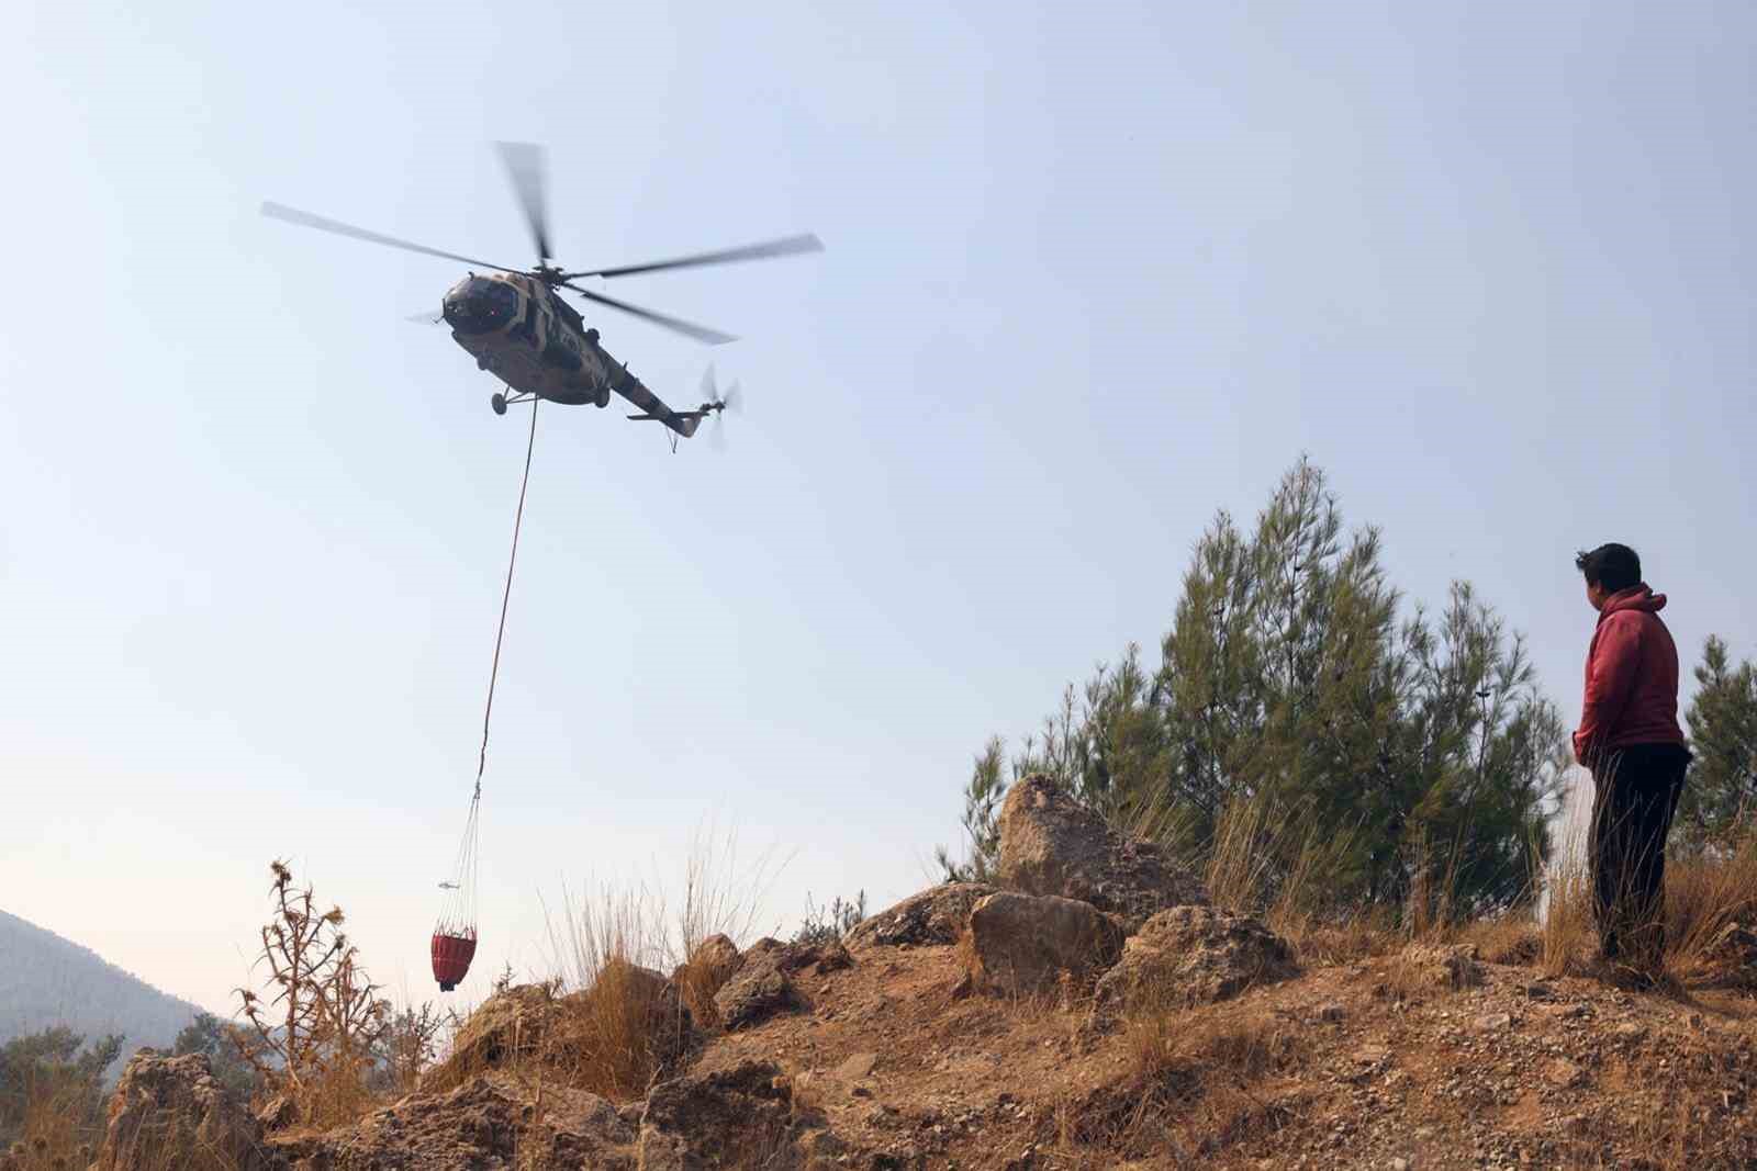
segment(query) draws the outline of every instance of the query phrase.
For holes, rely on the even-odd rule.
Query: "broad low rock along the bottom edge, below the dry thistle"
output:
[[[293,1171],[634,1171],[638,1127],[596,1094],[543,1087],[536,1113],[508,1074],[411,1094],[351,1127],[271,1139]]]

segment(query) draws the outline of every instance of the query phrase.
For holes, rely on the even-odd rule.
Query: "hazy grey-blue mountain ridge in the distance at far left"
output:
[[[0,911],[0,1045],[67,1025],[86,1038],[123,1034],[123,1055],[169,1048],[200,1011],[107,962],[91,948]]]

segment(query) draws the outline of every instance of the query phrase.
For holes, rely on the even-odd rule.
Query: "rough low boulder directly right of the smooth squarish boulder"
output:
[[[1247,915],[1179,906],[1149,918],[1098,980],[1098,1002],[1119,1008],[1207,1004],[1251,985],[1298,974],[1293,950]]]

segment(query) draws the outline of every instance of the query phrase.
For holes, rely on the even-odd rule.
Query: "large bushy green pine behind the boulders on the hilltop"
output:
[[[1237,901],[1295,880],[1334,908],[1441,892],[1425,916],[1530,897],[1567,765],[1523,641],[1467,583],[1437,614],[1407,606],[1379,532],[1349,530],[1307,460],[1253,527],[1221,513],[1197,542],[1156,671],[1130,646],[1003,755],[977,758],[947,878],[993,873],[1005,787],[1047,772],[1198,867],[1232,855]]]

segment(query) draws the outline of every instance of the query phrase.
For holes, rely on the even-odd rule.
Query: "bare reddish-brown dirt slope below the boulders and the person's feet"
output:
[[[956,946],[801,976],[808,1008],[712,1038],[780,1066],[875,1166],[1757,1167],[1757,1002],[1400,955],[1137,1018],[961,990]]]

